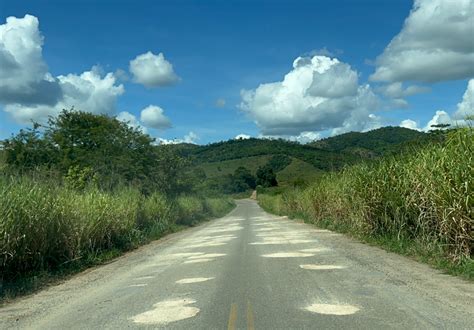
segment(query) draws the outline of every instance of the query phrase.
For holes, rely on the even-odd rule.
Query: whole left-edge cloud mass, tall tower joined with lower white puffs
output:
[[[124,93],[114,74],[93,67],[80,75],[53,77],[42,57],[36,17],[8,17],[0,25],[0,103],[17,122],[45,121],[63,109],[113,114]]]

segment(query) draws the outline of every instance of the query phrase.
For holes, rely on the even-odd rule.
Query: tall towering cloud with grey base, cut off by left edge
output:
[[[36,17],[8,17],[0,25],[0,102],[54,105],[62,97],[42,57]]]

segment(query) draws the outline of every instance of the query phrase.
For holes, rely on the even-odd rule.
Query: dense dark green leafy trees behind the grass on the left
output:
[[[155,146],[142,131],[106,115],[65,110],[3,142],[13,173],[50,171],[61,177],[94,181],[111,190],[127,184],[144,193],[178,194],[185,159],[169,146]]]

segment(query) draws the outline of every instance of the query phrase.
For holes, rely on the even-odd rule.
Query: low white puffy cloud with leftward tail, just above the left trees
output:
[[[123,85],[115,84],[116,80],[112,73],[101,77],[99,71],[93,67],[81,75],[58,76],[63,98],[53,106],[12,103],[5,105],[4,109],[20,123],[27,123],[30,120],[44,121],[48,116],[57,115],[63,109],[72,107],[76,110],[111,115],[116,111],[117,98],[125,90]]]

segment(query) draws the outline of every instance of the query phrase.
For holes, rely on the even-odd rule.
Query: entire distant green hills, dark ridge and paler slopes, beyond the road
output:
[[[369,132],[350,132],[302,145],[283,139],[228,140],[204,146],[178,144],[173,148],[191,160],[208,179],[232,174],[243,166],[255,174],[275,155],[289,156],[278,168],[277,179],[283,184],[311,181],[323,171],[396,154],[407,145],[428,142],[428,134],[402,127],[383,127]]]

